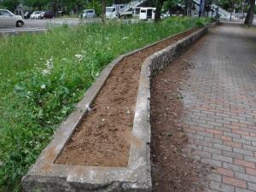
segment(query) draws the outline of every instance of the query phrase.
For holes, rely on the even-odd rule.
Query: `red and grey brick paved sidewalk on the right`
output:
[[[216,167],[208,192],[256,191],[256,30],[224,25],[204,40],[183,84],[188,149]]]

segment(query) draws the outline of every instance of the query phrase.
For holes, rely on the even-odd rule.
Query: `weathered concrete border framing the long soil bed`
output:
[[[158,44],[150,44],[142,49],[121,55],[111,62],[102,71],[84,98],[78,103],[76,110],[71,113],[60,127],[55,131],[54,139],[38,157],[37,162],[22,178],[22,186],[27,192],[149,192],[152,190],[150,166],[150,78],[168,63],[173,61],[183,49],[201,38],[208,27],[190,34],[188,37],[177,41],[166,49],[149,56],[143,62],[137,95],[137,105],[132,134],[135,139],[131,141],[129,163],[127,167],[103,166],[72,166],[55,164],[55,160],[62,148],[73,136],[73,132],[87,112],[90,104],[102,89],[113,67],[125,56]],[[177,34],[178,35],[178,34]],[[177,36],[176,35],[176,36]],[[169,38],[173,38],[169,37]]]

